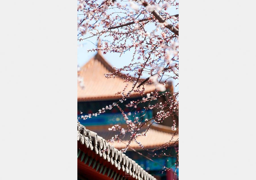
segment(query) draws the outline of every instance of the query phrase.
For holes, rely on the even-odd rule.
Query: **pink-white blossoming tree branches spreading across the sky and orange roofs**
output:
[[[153,0],[78,0],[79,42],[82,43],[92,37],[102,39],[96,48],[88,51],[101,50],[103,54],[119,53],[120,57],[127,51],[132,52],[131,62],[127,62],[128,65],[122,68],[114,67],[114,72],[105,74],[106,78],[123,79],[125,86],[123,91],[113,92],[113,94],[121,94],[122,98],[117,103],[99,109],[98,112],[81,115],[78,118],[78,120],[86,120],[116,106],[123,115],[127,129],[119,125],[109,128],[110,131],[120,131],[120,134],[112,137],[110,142],[120,141],[121,135],[130,133],[131,139],[127,147],[122,149],[123,152],[129,148],[132,140],[144,149],[143,144],[137,142],[136,138],[146,136],[153,122],[161,123],[178,113],[179,93],[169,92],[166,88],[170,80],[177,80],[179,77],[179,15],[170,13],[170,9],[178,9],[178,5],[175,0],[159,2]],[[147,78],[141,80],[142,76]],[[84,87],[80,76],[78,76],[78,83]],[[130,89],[129,83],[132,84]],[[154,84],[155,91],[146,94],[144,87],[146,84]],[[140,94],[142,99],[127,103],[126,100],[132,93]],[[158,101],[160,99],[161,102]],[[140,104],[148,105],[144,107],[144,115],[137,116],[135,112],[133,118],[131,112],[125,114],[118,105],[121,103],[135,110]],[[150,109],[157,113],[151,119],[145,119],[146,111]],[[138,133],[144,126],[147,126],[147,130]],[[172,130],[177,129],[173,118]],[[170,144],[164,147],[169,146]],[[169,156],[164,153],[162,155]]]

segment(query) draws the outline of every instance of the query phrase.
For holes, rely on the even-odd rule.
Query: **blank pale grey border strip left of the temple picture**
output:
[[[76,179],[77,2],[0,13],[0,179]]]

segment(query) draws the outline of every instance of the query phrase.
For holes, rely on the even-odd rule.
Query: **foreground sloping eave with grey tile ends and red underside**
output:
[[[87,165],[86,167],[95,168],[97,172],[100,172],[99,167],[103,165],[104,169],[108,168],[108,177],[115,180],[123,179],[124,175],[127,174],[130,175],[129,179],[131,180],[156,180],[134,160],[110,146],[104,138],[86,129],[79,122],[77,122],[77,140],[78,165],[82,162],[85,166]],[[102,171],[100,173],[103,174]],[[84,168],[84,174],[86,174],[86,168]]]

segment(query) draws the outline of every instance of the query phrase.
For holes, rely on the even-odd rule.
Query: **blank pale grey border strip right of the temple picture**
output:
[[[255,2],[179,3],[179,178],[255,179]]]

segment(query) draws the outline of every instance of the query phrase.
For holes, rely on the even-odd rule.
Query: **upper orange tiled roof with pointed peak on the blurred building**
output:
[[[115,70],[105,61],[101,51],[90,59],[78,72],[79,76],[83,77],[84,88],[77,84],[77,101],[99,101],[99,100],[117,100],[121,99],[122,95],[115,95],[117,92],[122,92],[126,84],[122,78],[106,78],[104,74],[115,72]],[[139,81],[140,82],[140,81]],[[128,82],[127,91],[132,89],[133,84]],[[145,84],[145,94],[155,90],[154,84]],[[137,88],[135,88],[137,89]],[[142,86],[140,87],[142,90]],[[141,97],[139,93],[131,93],[130,98]]]

